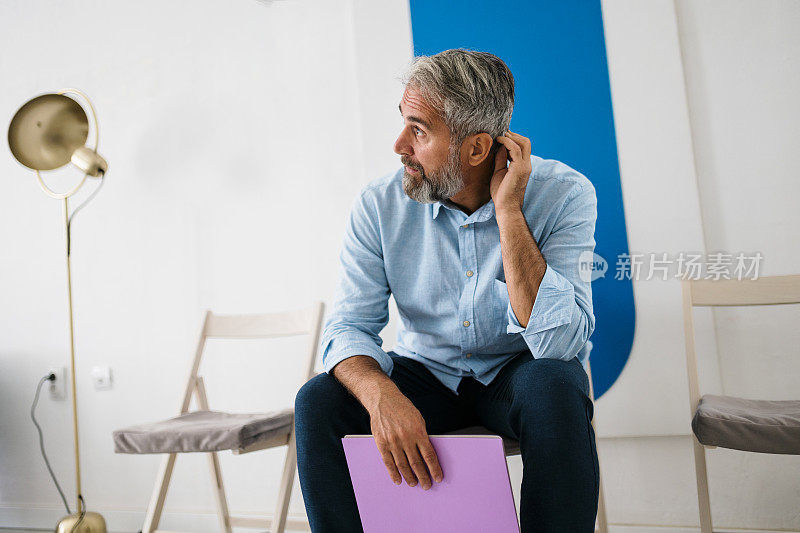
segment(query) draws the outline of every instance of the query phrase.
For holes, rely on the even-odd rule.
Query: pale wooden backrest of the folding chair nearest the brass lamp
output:
[[[198,371],[203,359],[206,339],[257,339],[308,335],[307,358],[303,375],[306,381],[311,379],[314,376],[314,363],[316,362],[324,313],[325,304],[323,302],[315,302],[310,307],[281,313],[217,315],[210,310],[206,311],[200,339],[189,371],[189,379],[184,390],[180,414],[189,411],[193,393],[198,394],[201,404],[205,403],[202,399],[204,395],[202,379],[198,376]]]

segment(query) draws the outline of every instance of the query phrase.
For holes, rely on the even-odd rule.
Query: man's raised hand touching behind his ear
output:
[[[531,141],[509,131],[497,137],[497,142],[502,146],[495,156],[494,173],[489,183],[495,211],[522,211],[525,187],[531,175]]]

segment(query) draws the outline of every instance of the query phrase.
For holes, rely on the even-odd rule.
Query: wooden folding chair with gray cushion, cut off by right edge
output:
[[[684,280],[682,290],[700,531],[712,533],[706,448],[800,454],[800,438],[797,438],[800,436],[800,401],[747,400],[716,395],[701,397],[692,308],[797,304],[800,303],[800,275],[755,280]]]

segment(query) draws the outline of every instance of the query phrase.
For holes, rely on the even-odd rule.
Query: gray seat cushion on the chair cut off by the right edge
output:
[[[800,455],[800,401],[707,394],[697,406],[692,431],[706,446]]]

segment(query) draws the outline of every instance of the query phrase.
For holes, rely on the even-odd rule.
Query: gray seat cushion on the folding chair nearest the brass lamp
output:
[[[114,432],[117,453],[181,453],[240,450],[289,435],[294,410],[259,414],[194,411],[169,420]]]

